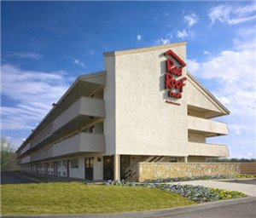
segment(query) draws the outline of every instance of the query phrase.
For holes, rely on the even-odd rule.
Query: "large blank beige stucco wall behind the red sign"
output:
[[[186,86],[180,106],[165,102],[168,49],[186,61],[184,44],[115,56],[117,153],[187,156]]]

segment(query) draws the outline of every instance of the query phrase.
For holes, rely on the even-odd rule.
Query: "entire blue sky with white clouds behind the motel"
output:
[[[20,146],[103,52],[187,41],[188,70],[230,116],[230,157],[256,157],[255,2],[1,2],[2,135]]]

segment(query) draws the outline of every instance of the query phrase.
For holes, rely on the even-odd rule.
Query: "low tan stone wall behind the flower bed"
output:
[[[137,181],[197,175],[236,175],[241,163],[138,163]]]

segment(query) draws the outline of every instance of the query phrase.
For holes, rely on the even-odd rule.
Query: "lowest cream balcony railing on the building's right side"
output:
[[[189,142],[189,156],[228,157],[229,150],[224,145]]]

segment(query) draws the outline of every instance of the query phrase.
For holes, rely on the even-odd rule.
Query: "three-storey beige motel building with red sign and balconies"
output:
[[[88,181],[132,179],[137,163],[228,157],[207,138],[230,112],[186,70],[186,43],[104,54],[79,76],[17,150],[21,169]]]

